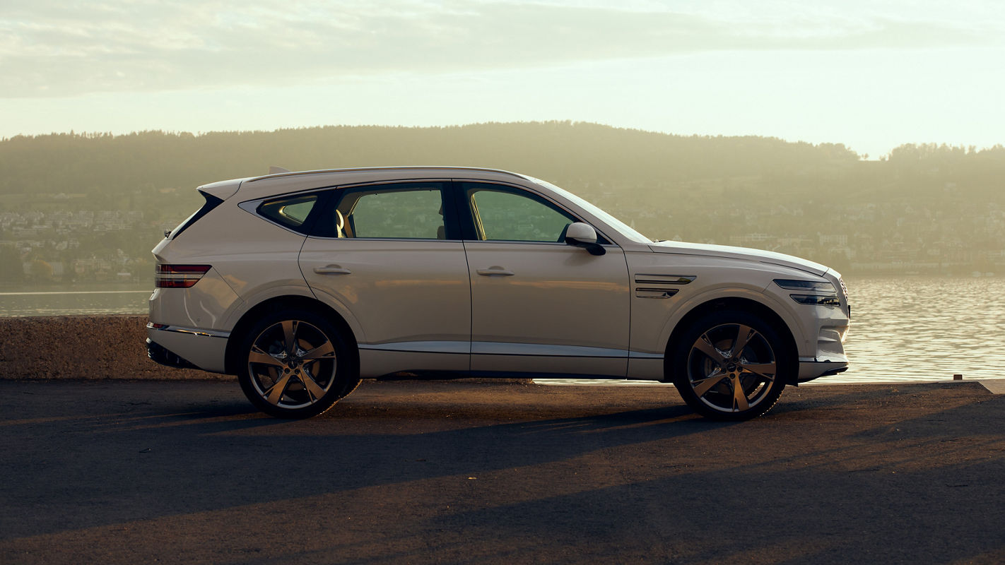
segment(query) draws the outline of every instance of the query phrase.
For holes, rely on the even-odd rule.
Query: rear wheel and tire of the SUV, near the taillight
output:
[[[350,343],[320,314],[273,311],[242,337],[237,380],[261,411],[276,417],[312,417],[359,385]]]

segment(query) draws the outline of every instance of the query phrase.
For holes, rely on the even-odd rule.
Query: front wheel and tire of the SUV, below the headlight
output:
[[[738,340],[743,341],[736,350]],[[750,419],[770,410],[797,366],[792,347],[774,325],[744,310],[703,314],[684,329],[670,353],[680,396],[699,414],[722,420]]]

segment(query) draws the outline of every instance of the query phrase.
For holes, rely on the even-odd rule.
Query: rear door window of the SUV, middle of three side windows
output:
[[[446,239],[441,183],[335,191],[318,235],[340,238]]]

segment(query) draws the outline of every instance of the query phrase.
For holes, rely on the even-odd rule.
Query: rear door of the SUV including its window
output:
[[[382,356],[395,358],[398,366],[388,370],[468,367],[470,283],[448,188],[409,182],[333,190],[300,251],[315,294],[343,305],[362,327],[361,355],[398,353]]]

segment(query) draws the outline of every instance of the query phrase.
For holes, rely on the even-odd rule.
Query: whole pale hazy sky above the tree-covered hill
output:
[[[573,119],[1005,144],[1005,2],[2,0],[0,136]]]

